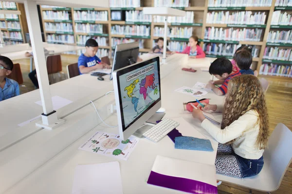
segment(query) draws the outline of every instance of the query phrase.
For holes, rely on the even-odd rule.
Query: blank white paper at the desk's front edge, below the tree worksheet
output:
[[[76,166],[72,194],[123,194],[119,162]]]

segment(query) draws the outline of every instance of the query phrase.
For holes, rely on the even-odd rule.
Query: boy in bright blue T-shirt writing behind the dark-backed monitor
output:
[[[88,39],[85,43],[86,52],[78,58],[79,73],[90,73],[96,69],[110,68],[110,65],[102,62],[97,56],[98,44],[94,39]]]

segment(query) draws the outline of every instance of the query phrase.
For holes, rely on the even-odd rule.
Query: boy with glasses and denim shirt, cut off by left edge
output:
[[[0,101],[19,95],[17,81],[6,78],[13,69],[13,62],[4,56],[0,56]]]

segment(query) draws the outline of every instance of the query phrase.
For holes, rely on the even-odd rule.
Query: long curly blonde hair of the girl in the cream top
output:
[[[241,75],[228,83],[228,95],[224,104],[221,129],[229,126],[244,113],[254,110],[258,113],[259,133],[256,146],[264,149],[269,137],[269,117],[264,91],[253,75]],[[228,142],[233,143],[235,140]]]

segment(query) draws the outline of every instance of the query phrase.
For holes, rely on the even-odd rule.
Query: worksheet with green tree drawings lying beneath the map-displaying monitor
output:
[[[79,149],[127,161],[139,139],[131,135],[122,141],[119,137],[116,134],[97,131]]]

